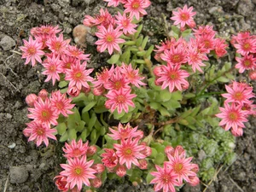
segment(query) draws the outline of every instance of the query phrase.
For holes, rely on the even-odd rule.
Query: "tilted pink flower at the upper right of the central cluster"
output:
[[[125,63],[122,63],[122,67],[120,68],[120,72],[123,73],[128,79],[130,84],[134,84],[137,86],[137,88],[140,88],[140,85],[146,85],[141,80],[144,79],[144,77],[141,77],[138,73],[138,69],[135,70],[131,67],[131,63],[127,66]]]

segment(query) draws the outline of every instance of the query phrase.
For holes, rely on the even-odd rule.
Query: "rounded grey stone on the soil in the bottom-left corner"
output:
[[[10,183],[25,183],[28,177],[28,172],[23,166],[12,166],[9,169]]]

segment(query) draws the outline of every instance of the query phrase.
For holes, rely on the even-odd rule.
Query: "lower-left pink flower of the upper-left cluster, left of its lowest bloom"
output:
[[[51,58],[48,57],[43,63],[43,66],[45,68],[43,74],[47,75],[47,79],[45,79],[44,82],[47,82],[50,79],[52,79],[52,84],[55,84],[56,79],[60,81],[59,73],[63,72],[62,65],[63,64],[60,60],[60,55],[53,55]]]

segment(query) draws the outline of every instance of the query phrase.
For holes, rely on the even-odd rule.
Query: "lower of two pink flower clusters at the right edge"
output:
[[[248,116],[256,115],[256,105],[251,100],[255,97],[253,87],[234,81],[225,85],[225,88],[228,93],[222,94],[226,98],[224,108],[219,108],[221,113],[216,116],[222,119],[219,125],[223,126],[225,131],[231,129],[232,134],[239,137],[243,133],[243,123],[248,121]]]

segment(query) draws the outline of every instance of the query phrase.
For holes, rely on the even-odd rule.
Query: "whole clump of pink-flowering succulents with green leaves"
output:
[[[63,192],[96,191],[107,178],[125,176],[165,192],[211,180],[216,165],[236,160],[235,137],[256,114],[253,87],[236,81],[236,69],[256,79],[256,37],[231,38],[234,66],[221,62],[229,44],[212,26],[195,24],[193,7],[173,11],[171,36],[153,45],[139,24],[148,0],[106,2],[115,15],[101,9],[84,17],[96,49],[109,54],[109,66],[95,76],[90,55],[58,26],[32,28],[24,40],[25,64],[43,65],[45,82],[59,87],[26,96],[24,135],[37,146],[48,147],[49,138],[65,143],[67,161],[55,177]]]

